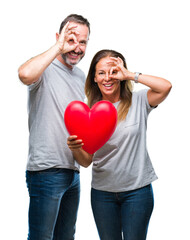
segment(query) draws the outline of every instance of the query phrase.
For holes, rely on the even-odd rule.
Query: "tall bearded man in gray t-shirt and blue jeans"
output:
[[[85,98],[85,76],[75,65],[85,55],[89,34],[87,19],[69,15],[56,44],[19,68],[29,94],[28,240],[74,239],[79,164],[67,147],[64,111],[71,101]]]

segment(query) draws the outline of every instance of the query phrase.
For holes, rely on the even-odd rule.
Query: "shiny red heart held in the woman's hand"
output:
[[[117,110],[109,101],[100,101],[90,109],[80,101],[71,102],[64,115],[70,135],[82,139],[83,149],[93,154],[112,136],[117,125]]]

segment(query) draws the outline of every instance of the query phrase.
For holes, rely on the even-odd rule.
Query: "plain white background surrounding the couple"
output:
[[[148,240],[190,239],[188,0],[17,0],[0,6],[0,239],[26,240],[28,193],[27,90],[18,67],[55,43],[69,14],[91,23],[90,41],[79,66],[87,73],[103,48],[120,51],[130,71],[164,77],[173,88],[148,120],[148,150],[159,179]],[[144,86],[138,85],[138,88]],[[91,167],[81,169],[76,240],[97,240],[90,207]]]

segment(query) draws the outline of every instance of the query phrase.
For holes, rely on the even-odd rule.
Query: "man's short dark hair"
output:
[[[89,21],[84,18],[81,15],[78,14],[70,14],[69,16],[67,16],[61,23],[60,28],[59,28],[59,33],[61,33],[61,30],[63,29],[63,27],[65,26],[65,24],[70,21],[70,22],[75,22],[75,23],[80,23],[83,25],[86,25],[88,27],[89,30],[89,34],[90,34],[90,23]]]

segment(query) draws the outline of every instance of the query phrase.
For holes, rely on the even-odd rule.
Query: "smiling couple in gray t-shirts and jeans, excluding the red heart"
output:
[[[91,203],[100,239],[146,239],[151,182],[157,179],[146,149],[147,117],[166,98],[171,83],[128,71],[122,54],[113,50],[94,56],[86,79],[75,65],[85,55],[89,34],[87,19],[69,15],[55,45],[19,68],[29,95],[28,240],[74,239],[79,166],[92,161]],[[148,88],[132,92],[132,82]],[[90,107],[108,100],[118,111],[114,134],[94,155],[64,125],[67,105],[84,101],[85,95]]]

